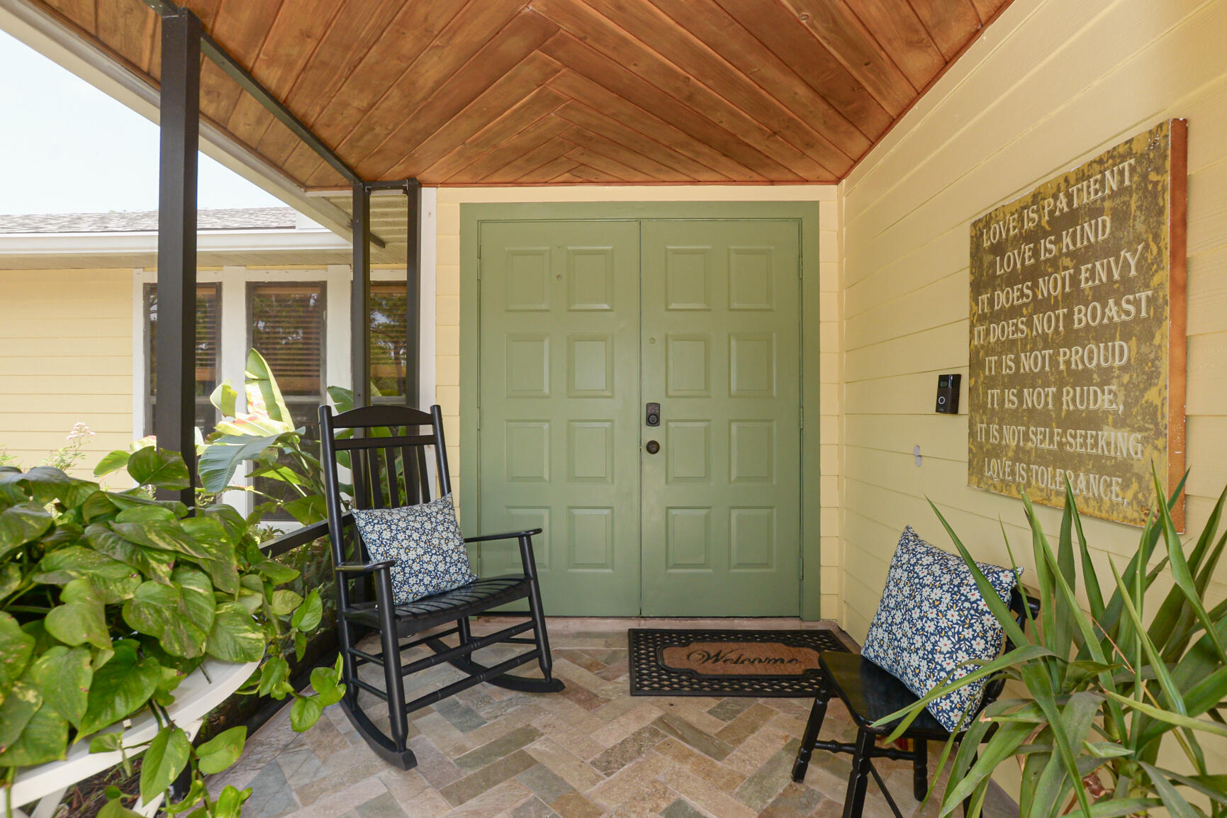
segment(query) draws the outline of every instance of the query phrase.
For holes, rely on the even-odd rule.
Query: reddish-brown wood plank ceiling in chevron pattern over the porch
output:
[[[32,0],[157,82],[140,0]],[[363,179],[842,179],[1009,0],[184,0]],[[212,63],[201,112],[344,179]]]

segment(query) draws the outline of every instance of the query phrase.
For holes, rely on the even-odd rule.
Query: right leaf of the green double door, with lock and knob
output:
[[[642,222],[644,616],[796,616],[795,221]]]

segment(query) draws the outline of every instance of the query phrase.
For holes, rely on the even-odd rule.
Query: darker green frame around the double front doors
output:
[[[818,348],[818,202],[507,202],[460,205],[460,509],[477,508],[477,361],[481,314],[477,300],[477,250],[482,222],[638,221],[638,220],[796,220],[801,226],[801,564],[798,602],[802,619],[820,618],[821,470]],[[809,426],[804,424],[810,407]],[[470,515],[476,518],[476,515]],[[470,536],[477,532],[469,531]]]

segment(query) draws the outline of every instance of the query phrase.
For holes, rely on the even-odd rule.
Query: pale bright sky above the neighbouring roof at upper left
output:
[[[0,77],[0,213],[157,210],[157,125],[2,31]],[[204,155],[199,180],[200,207],[285,205]]]

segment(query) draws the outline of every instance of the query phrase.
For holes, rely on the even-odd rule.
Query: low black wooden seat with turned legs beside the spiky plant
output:
[[[1015,587],[1010,595],[1010,610],[1017,616],[1020,628],[1025,627],[1027,621],[1023,605],[1031,607],[1032,617],[1038,614],[1038,601],[1025,596]],[[1014,650],[1014,645],[1007,638],[1005,651],[1011,650]],[[891,791],[886,789],[886,782],[882,781],[882,776],[874,766],[874,759],[890,758],[912,762],[912,793],[917,801],[923,801],[929,791],[929,742],[945,742],[950,738],[950,732],[933,717],[933,714],[924,710],[901,736],[910,741],[912,749],[879,747],[876,738],[891,735],[898,722],[894,721],[881,727],[875,727],[874,722],[882,716],[888,716],[915,704],[918,697],[903,682],[874,662],[861,659],[859,654],[827,651],[818,656],[818,663],[822,666],[822,682],[818,687],[818,695],[814,700],[814,708],[810,710],[810,720],[805,725],[801,748],[793,764],[793,780],[805,780],[805,771],[810,766],[810,755],[815,749],[825,749],[829,753],[852,753],[852,771],[848,775],[848,791],[844,793],[843,818],[860,818],[861,811],[865,808],[865,790],[870,775],[874,776],[882,795],[886,796],[886,803],[890,805],[891,812],[894,813],[896,818],[903,818],[898,805],[891,797]],[[977,714],[995,701],[1001,695],[1004,687],[1004,678],[995,678],[985,684]],[[818,740],[822,720],[827,715],[827,701],[831,700],[832,695],[843,699],[848,714],[856,725],[855,743]],[[963,812],[967,812],[966,802]]]

